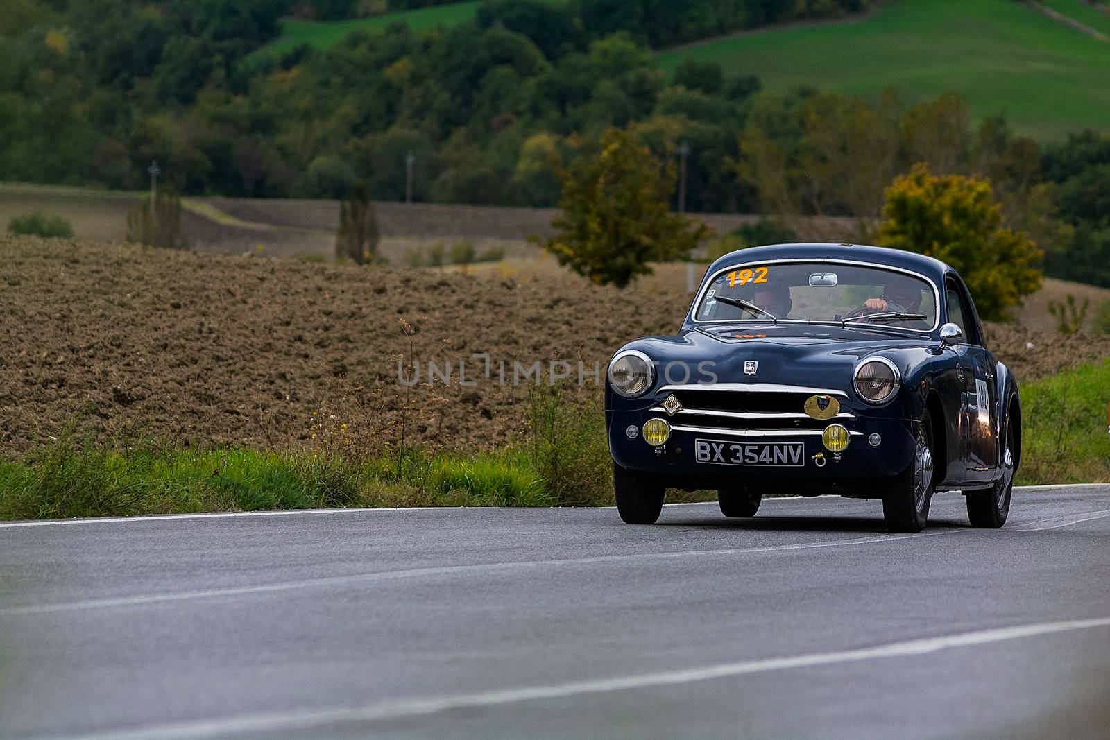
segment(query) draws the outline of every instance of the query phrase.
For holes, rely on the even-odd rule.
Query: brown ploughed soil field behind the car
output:
[[[628,339],[673,332],[688,301],[682,267],[624,292],[532,267],[335,267],[0,236],[0,452],[68,423],[101,438],[139,428],[174,443],[309,445],[322,407],[356,437],[395,435],[402,356],[422,375],[450,359],[456,381],[460,361],[468,378],[481,373],[471,354],[483,352],[509,379],[514,359],[604,367]],[[991,346],[1025,379],[1110,355],[1110,337],[999,326]],[[500,386],[496,369],[475,379],[414,389],[408,438],[519,439],[528,385]]]

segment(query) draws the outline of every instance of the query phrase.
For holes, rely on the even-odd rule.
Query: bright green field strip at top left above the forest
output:
[[[450,28],[473,19],[481,7],[481,0],[470,0],[468,2],[415,8],[384,16],[354,18],[344,21],[283,20],[281,36],[255,51],[252,57],[281,54],[303,43],[316,49],[327,49],[335,45],[351,31],[380,29],[395,22],[406,23],[411,29],[435,28],[436,26]]]

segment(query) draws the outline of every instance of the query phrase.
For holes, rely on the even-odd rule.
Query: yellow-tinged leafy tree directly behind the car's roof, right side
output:
[[[1041,251],[1022,232],[1002,229],[990,184],[961,175],[936,176],[924,162],[886,192],[879,244],[928,254],[956,267],[980,316],[1006,310],[1040,287]]]

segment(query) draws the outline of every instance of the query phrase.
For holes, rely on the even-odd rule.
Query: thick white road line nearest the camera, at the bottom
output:
[[[251,733],[278,730],[303,730],[313,727],[324,727],[339,722],[374,722],[397,720],[402,718],[436,714],[453,709],[473,709],[478,707],[500,707],[524,701],[541,701],[545,699],[562,699],[613,691],[628,691],[659,686],[680,686],[708,681],[713,679],[731,678],[749,673],[764,673],[816,666],[859,662],[865,660],[887,660],[891,658],[910,658],[925,656],[941,650],[970,648],[1006,640],[1053,635],[1082,629],[1110,627],[1110,617],[1094,619],[1077,619],[1070,621],[1040,622],[983,629],[956,635],[944,635],[917,640],[888,642],[870,648],[855,650],[838,650],[834,652],[813,652],[808,655],[784,658],[767,658],[763,660],[743,660],[700,668],[639,673],[634,676],[617,676],[612,678],[568,681],[548,686],[532,686],[517,689],[503,689],[463,693],[435,699],[414,699],[408,701],[387,701],[357,708],[335,708],[323,710],[305,710],[291,712],[274,712],[266,714],[248,714],[225,719],[200,720],[195,722],[179,722],[172,724],[154,724],[130,730],[99,732],[91,736],[111,740],[131,740],[133,738],[205,738],[229,733]]]

